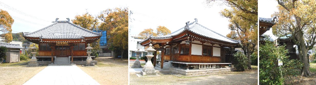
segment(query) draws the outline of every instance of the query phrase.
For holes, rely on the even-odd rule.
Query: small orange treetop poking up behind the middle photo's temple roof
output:
[[[156,31],[154,29],[148,28],[144,29],[144,31],[140,32],[138,35],[141,39],[146,39],[151,36],[164,36],[170,34],[171,31],[165,26],[157,26]]]

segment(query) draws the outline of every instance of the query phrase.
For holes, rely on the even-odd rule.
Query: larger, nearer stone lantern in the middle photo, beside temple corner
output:
[[[147,57],[147,62],[143,68],[143,70],[140,72],[143,76],[147,76],[147,75],[156,75],[156,71],[154,69],[153,64],[151,63],[151,58],[154,57],[153,52],[156,51],[155,49],[153,49],[152,47],[153,45],[150,43],[149,44],[149,48],[145,49],[145,51],[148,51],[146,57]]]

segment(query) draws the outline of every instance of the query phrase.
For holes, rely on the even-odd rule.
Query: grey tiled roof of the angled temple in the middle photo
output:
[[[182,27],[181,29],[174,31],[168,35],[165,36],[158,36],[158,37],[151,37],[151,38],[169,38],[169,37],[174,37],[180,33],[182,33],[185,30],[191,31],[192,33],[195,33],[197,35],[203,36],[203,37],[207,37],[207,38],[211,38],[211,39],[215,39],[215,40],[219,40],[219,41],[223,41],[223,42],[228,42],[228,43],[239,43],[239,40],[234,40],[231,38],[228,38],[226,36],[223,36],[215,31],[212,31],[206,27],[204,27],[203,25],[198,24],[196,21],[191,22],[189,25],[189,29],[185,29],[185,27]],[[148,40],[149,38],[143,40],[142,42]]]

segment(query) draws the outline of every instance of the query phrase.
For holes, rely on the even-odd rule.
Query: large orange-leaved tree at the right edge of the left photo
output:
[[[98,19],[103,21],[100,30],[107,31],[109,36],[109,49],[114,51],[114,55],[120,54],[122,60],[128,48],[128,8],[106,9],[101,11]]]

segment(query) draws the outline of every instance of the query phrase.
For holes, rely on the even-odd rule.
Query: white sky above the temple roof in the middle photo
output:
[[[173,1],[158,0],[153,2],[140,1],[129,4],[132,19],[129,20],[129,29],[131,35],[138,35],[143,29],[156,29],[157,26],[166,26],[171,32],[174,32],[185,26],[185,22],[197,22],[205,27],[226,36],[228,29],[228,19],[221,17],[219,12],[226,5],[212,7],[204,3],[205,0],[191,1]],[[146,4],[145,4],[146,3]]]

